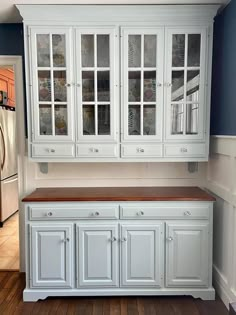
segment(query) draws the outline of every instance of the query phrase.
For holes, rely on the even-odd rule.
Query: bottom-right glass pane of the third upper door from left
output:
[[[144,135],[156,134],[156,106],[155,105],[143,106],[143,134]]]

